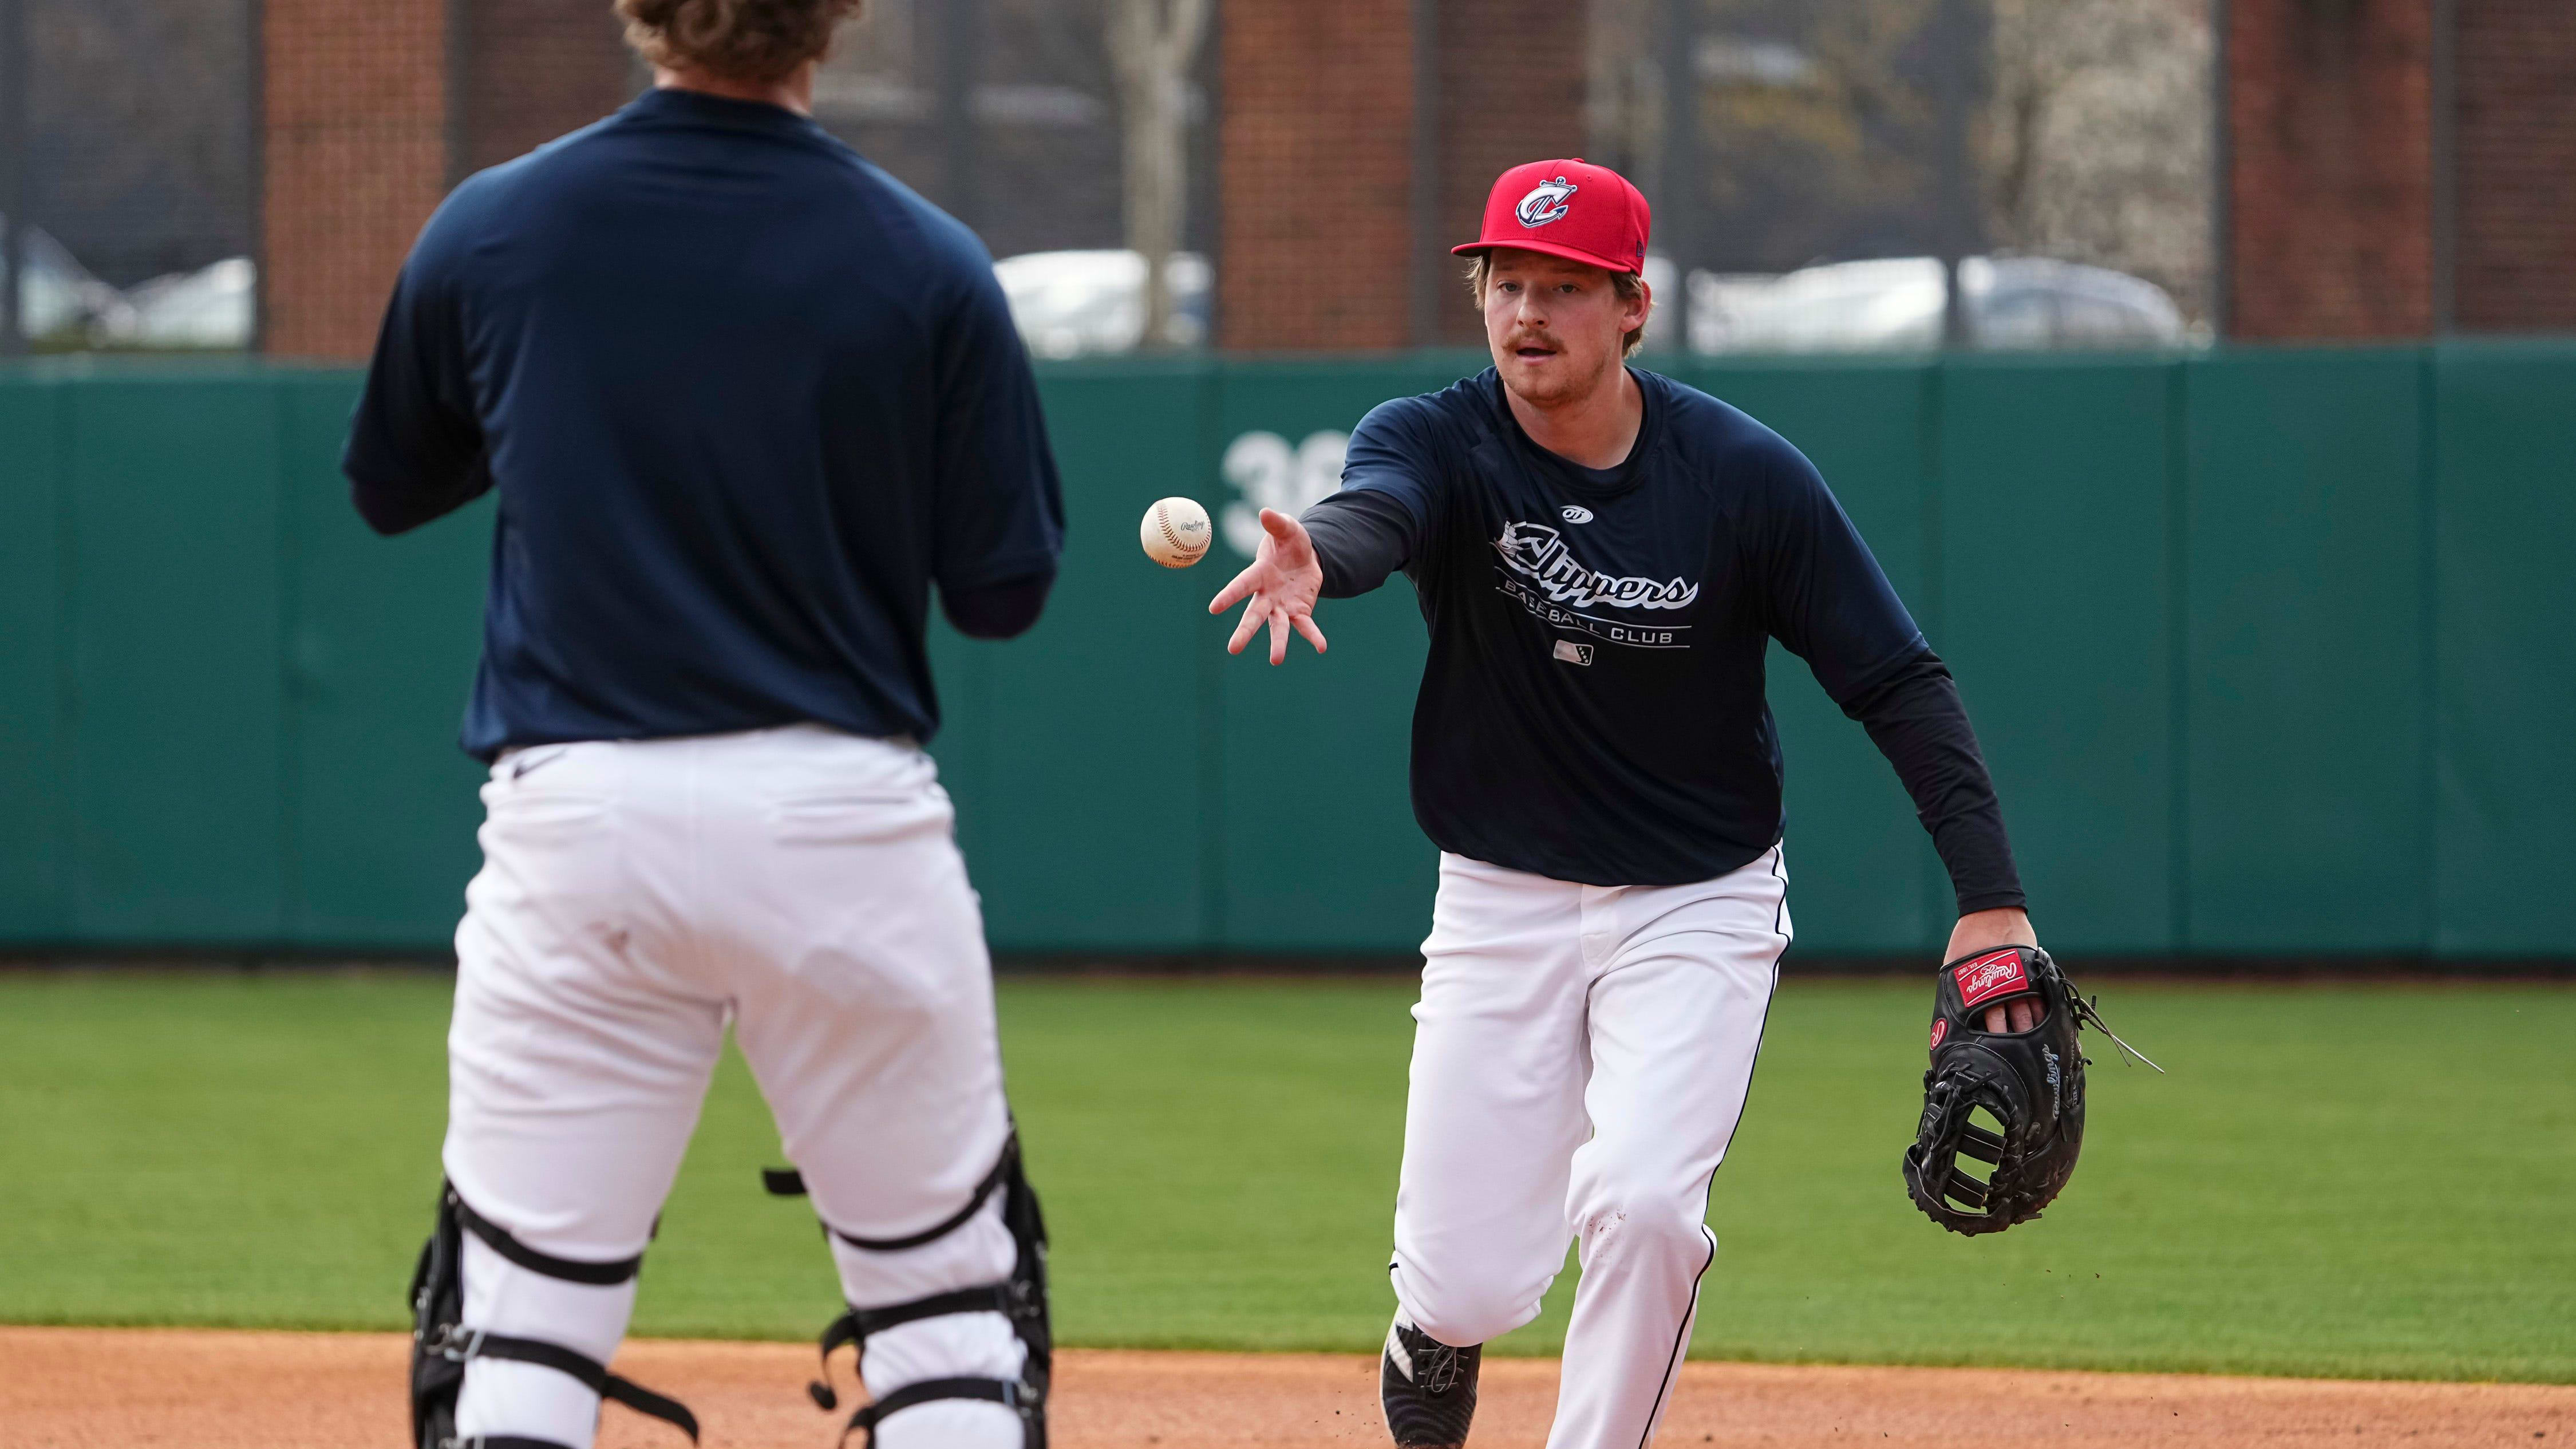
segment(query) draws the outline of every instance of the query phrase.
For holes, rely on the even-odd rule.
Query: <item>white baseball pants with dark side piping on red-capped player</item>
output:
[[[1790,941],[1780,848],[1700,884],[1592,887],[1440,856],[1422,944],[1396,1305],[1466,1348],[1538,1318],[1582,1248],[1548,1449],[1641,1449],[1718,1243]]]

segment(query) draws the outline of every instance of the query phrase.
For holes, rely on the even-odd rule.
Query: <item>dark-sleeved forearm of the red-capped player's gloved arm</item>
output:
[[[1950,668],[1924,652],[1844,706],[1914,797],[1958,892],[1958,913],[2027,905],[2004,835],[2004,807],[1968,727]]]

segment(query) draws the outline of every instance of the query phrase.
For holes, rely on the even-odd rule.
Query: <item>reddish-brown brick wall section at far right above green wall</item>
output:
[[[2228,335],[2576,327],[2576,5],[2228,0]]]

